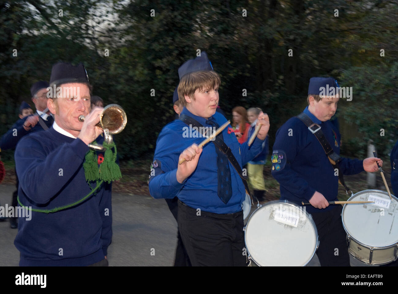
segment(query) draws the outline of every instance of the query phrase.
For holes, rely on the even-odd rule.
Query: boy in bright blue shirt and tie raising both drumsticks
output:
[[[179,102],[184,108],[180,119],[166,125],[158,136],[150,194],[154,198],[177,195],[178,227],[193,266],[244,266],[242,202],[246,193],[241,173],[243,165],[261,151],[269,129],[268,116],[259,114],[258,123],[263,126],[250,147],[240,145],[235,135],[224,129],[215,141],[199,149],[197,144],[204,138],[187,137],[184,129],[187,125],[218,128],[226,122],[216,112],[220,77],[205,52],[184,63],[178,74]],[[226,148],[219,149],[213,142]],[[236,163],[229,162],[226,154]],[[181,159],[185,162],[179,164]]]

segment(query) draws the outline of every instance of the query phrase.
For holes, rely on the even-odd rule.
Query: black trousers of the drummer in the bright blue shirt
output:
[[[243,212],[199,212],[178,201],[178,227],[193,266],[245,266]]]

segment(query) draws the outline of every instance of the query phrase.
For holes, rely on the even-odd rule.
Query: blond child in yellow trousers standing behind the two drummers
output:
[[[261,112],[260,108],[249,108],[247,112],[248,121],[250,123],[250,127],[248,127],[248,138],[254,133],[256,129],[256,122],[258,114]],[[264,164],[267,161],[268,149],[269,149],[269,138],[268,135],[263,142],[263,149],[261,152],[254,157],[252,161],[249,161],[247,164],[248,168],[248,177],[249,183],[253,187],[254,196],[258,199],[259,202],[264,202],[264,194],[265,194],[265,182],[264,182]]]

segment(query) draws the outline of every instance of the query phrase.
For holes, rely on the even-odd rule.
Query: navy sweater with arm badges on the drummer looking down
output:
[[[304,113],[321,126],[334,152],[340,154],[340,133],[333,123],[318,120],[308,106]],[[275,169],[271,172],[280,184],[281,200],[287,199],[301,205],[302,201],[308,202],[315,191],[322,193],[328,201],[338,200],[338,176],[318,139],[299,118],[289,119],[278,129],[273,150],[284,153],[285,166],[281,164],[279,171]],[[342,158],[339,168],[344,175],[364,171],[363,161],[358,159]],[[332,206],[322,210],[306,207],[309,213],[330,209]]]

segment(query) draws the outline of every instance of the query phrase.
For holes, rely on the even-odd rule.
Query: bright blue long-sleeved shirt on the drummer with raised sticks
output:
[[[191,114],[186,108],[181,114],[185,114],[205,127],[211,127],[206,124],[205,118]],[[220,126],[227,120],[216,112],[213,120]],[[231,125],[229,125],[230,128]],[[178,158],[182,151],[193,143],[199,145],[205,138],[187,137],[187,124],[180,120],[166,125],[158,136],[156,141],[156,150],[154,154],[154,163],[156,161],[155,176],[150,177],[149,191],[153,198],[174,198],[190,206],[191,208],[200,208],[206,212],[216,214],[230,214],[242,211],[242,202],[245,199],[245,188],[242,179],[234,167],[229,163],[231,172],[232,197],[227,204],[222,202],[217,194],[217,153],[215,145],[211,141],[203,147],[199,157],[198,165],[195,171],[183,183],[179,183],[176,178]],[[185,131],[185,134],[184,134]],[[223,139],[226,145],[230,147],[233,155],[238,161],[240,168],[260,151],[263,140],[256,138],[249,147],[247,143],[239,144],[235,133],[228,134],[228,127],[222,131]]]

